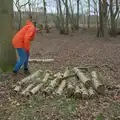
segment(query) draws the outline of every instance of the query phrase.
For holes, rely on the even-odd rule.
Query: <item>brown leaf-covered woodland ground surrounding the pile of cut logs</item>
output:
[[[106,95],[94,100],[75,100],[65,96],[52,98],[41,93],[24,98],[13,93],[11,81],[0,83],[0,120],[120,120],[120,94],[114,86],[120,84],[120,37],[96,38],[88,31],[60,35],[56,30],[39,33],[31,43],[31,58],[53,58],[53,63],[30,64],[31,72],[38,69],[64,71],[79,65],[110,66],[104,68],[108,83]],[[23,76],[19,76],[19,79]]]

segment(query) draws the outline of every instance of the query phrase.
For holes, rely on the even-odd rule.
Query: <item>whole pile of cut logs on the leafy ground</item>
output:
[[[105,94],[102,72],[94,69],[74,67],[66,68],[64,73],[53,74],[51,71],[39,70],[27,76],[15,85],[14,91],[24,95],[63,95],[77,99],[94,99]]]

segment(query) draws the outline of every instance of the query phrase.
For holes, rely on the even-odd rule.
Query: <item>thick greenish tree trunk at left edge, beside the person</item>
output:
[[[11,43],[14,32],[12,0],[0,2],[0,21],[0,68],[11,71],[16,62],[15,50]]]

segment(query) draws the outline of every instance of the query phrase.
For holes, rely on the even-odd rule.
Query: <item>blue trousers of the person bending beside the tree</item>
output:
[[[24,70],[28,70],[29,53],[27,53],[24,48],[17,48],[16,51],[19,55],[19,59],[17,60],[13,72],[17,73],[22,65],[24,65]]]

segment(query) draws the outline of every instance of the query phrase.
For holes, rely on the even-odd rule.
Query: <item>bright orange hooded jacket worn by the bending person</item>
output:
[[[27,21],[27,24],[13,37],[12,44],[14,48],[25,48],[30,50],[30,41],[34,39],[36,28],[33,23]]]

